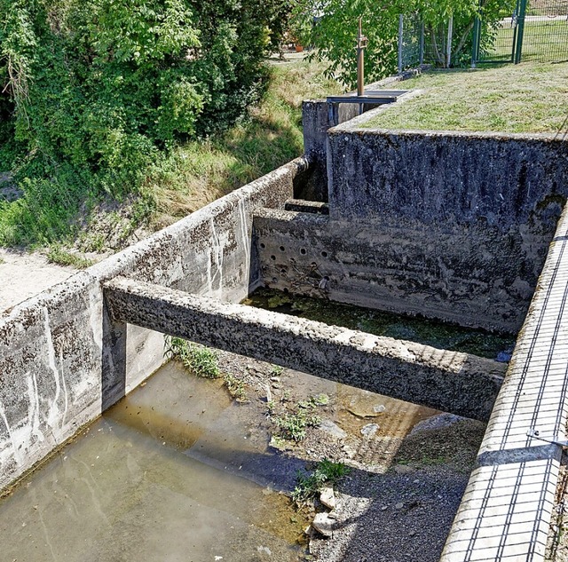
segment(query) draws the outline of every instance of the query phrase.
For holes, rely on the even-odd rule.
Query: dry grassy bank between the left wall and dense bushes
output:
[[[303,154],[302,101],[340,91],[323,77],[323,68],[304,60],[273,64],[268,94],[247,122],[215,138],[187,143],[157,163],[146,180],[146,190],[157,202],[154,228]]]

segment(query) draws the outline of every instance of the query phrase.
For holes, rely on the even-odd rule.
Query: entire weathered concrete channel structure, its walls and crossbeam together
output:
[[[566,143],[361,127],[383,110],[327,131],[327,103],[306,102],[304,157],[4,315],[0,489],[159,368],[168,333],[489,418],[442,559],[543,559],[562,447],[527,433],[564,439]],[[238,305],[263,285],[518,332],[517,347],[504,373]]]

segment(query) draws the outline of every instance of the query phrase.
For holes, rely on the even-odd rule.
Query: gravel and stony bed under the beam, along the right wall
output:
[[[317,408],[324,420],[299,443],[287,442],[280,461],[307,468],[327,458],[351,467],[340,483],[326,538],[310,527],[304,560],[402,562],[438,560],[468,483],[485,424],[419,408],[260,361],[222,353],[221,368],[247,385],[248,399],[267,398],[293,411],[299,400],[325,393]],[[368,406],[382,410],[370,416]],[[384,405],[384,406],[383,406]],[[366,409],[367,408],[367,409]],[[267,417],[268,431],[275,431]],[[378,426],[367,435],[361,429]],[[293,462],[293,463],[292,463]],[[286,483],[291,491],[290,481]],[[328,512],[316,501],[304,508],[310,521]]]

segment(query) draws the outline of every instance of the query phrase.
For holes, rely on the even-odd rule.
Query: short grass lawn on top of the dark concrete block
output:
[[[401,87],[423,93],[363,127],[556,133],[568,115],[568,63],[429,72]]]

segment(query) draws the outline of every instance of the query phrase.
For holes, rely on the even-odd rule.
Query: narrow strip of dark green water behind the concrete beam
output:
[[[359,329],[375,336],[389,336],[449,351],[467,352],[489,359],[509,360],[515,338],[485,330],[461,328],[424,318],[383,313],[312,297],[297,297],[275,289],[257,289],[245,304],[293,314],[313,321]]]

